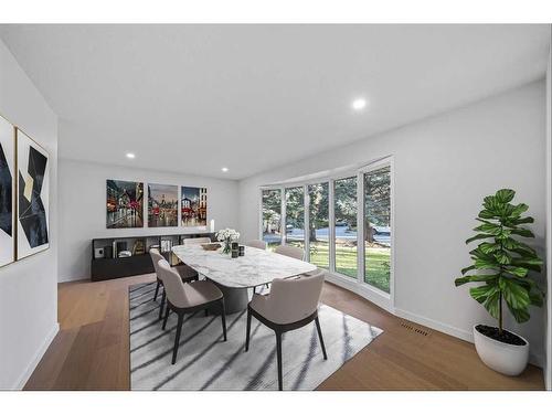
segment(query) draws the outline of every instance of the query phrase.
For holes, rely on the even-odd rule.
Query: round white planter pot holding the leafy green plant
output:
[[[487,367],[505,375],[519,375],[527,367],[529,341],[523,337],[520,338],[526,344],[512,346],[479,333],[474,326],[474,342],[479,358]]]

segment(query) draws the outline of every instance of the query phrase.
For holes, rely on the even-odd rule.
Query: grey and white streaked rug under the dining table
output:
[[[274,332],[252,319],[250,351],[244,352],[246,311],[226,316],[227,341],[221,319],[203,311],[182,326],[178,360],[171,364],[177,318],[167,330],[152,301],[156,284],[129,287],[130,382],[132,390],[277,390]],[[314,390],[383,331],[329,306],[319,309],[328,353],[323,360],[315,323],[283,336],[284,390]]]

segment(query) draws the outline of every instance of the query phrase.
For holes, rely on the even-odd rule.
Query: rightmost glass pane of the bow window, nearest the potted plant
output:
[[[364,172],[364,282],[390,293],[391,167]]]

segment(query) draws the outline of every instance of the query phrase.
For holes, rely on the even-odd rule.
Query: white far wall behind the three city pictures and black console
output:
[[[64,137],[63,134],[62,124],[60,127],[62,145],[64,139],[71,139],[71,137]],[[139,166],[140,161],[137,158],[134,162]],[[226,226],[237,227],[237,181],[60,159],[59,202],[62,217],[60,222],[60,282],[91,277],[92,238],[198,232],[198,230],[184,227],[106,229],[107,179],[141,181],[145,187],[148,182],[206,187],[208,224],[214,220],[215,230]],[[145,225],[147,225],[147,210],[144,217]]]

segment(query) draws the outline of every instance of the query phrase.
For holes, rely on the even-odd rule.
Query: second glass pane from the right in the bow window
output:
[[[357,278],[357,177],[333,182],[336,272]]]

